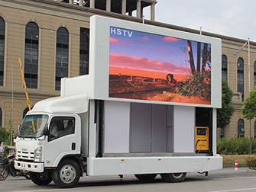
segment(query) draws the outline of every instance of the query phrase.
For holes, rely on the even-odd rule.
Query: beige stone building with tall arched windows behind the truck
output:
[[[164,3],[164,2],[161,2]],[[200,34],[199,30],[154,21],[156,0],[0,0],[0,126],[15,130],[28,111],[18,59],[24,70],[31,106],[60,95],[60,78],[89,70],[89,17],[98,14]],[[143,16],[150,8],[150,18]],[[241,116],[242,101],[256,85],[256,43],[202,32],[222,39],[222,77],[234,92],[232,122],[219,135],[250,136],[249,121]],[[255,120],[251,136],[256,135]]]

